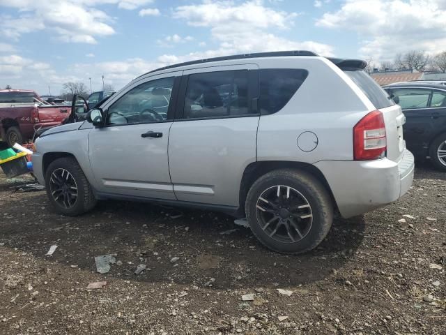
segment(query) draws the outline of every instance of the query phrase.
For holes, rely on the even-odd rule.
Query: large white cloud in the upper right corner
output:
[[[364,41],[361,56],[380,61],[408,50],[435,53],[446,49],[444,0],[347,0],[316,25],[357,32]]]

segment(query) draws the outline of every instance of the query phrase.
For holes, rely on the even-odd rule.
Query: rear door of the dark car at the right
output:
[[[406,116],[404,138],[407,147],[414,152],[421,152],[429,142],[433,132],[432,112],[429,107],[431,89],[406,87],[392,89],[392,94],[399,98],[399,105]]]

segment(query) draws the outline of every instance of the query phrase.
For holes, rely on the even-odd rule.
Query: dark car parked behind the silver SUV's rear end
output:
[[[446,86],[426,82],[401,82],[384,89],[394,96],[403,113],[407,147],[415,156],[430,157],[446,171]]]

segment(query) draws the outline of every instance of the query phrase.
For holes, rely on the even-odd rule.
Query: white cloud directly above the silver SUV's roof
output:
[[[174,18],[186,20],[194,27],[210,28],[210,33],[219,47],[205,52],[176,56],[164,54],[160,59],[167,63],[260,51],[311,50],[331,56],[330,45],[312,40],[297,41],[279,37],[270,29],[286,31],[294,25],[297,13],[286,13],[263,5],[263,1],[203,1],[199,5],[179,6]],[[298,31],[298,29],[297,29]]]

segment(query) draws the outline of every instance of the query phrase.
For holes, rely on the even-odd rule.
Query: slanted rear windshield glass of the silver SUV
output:
[[[364,70],[344,70],[378,110],[394,105],[394,101]]]

